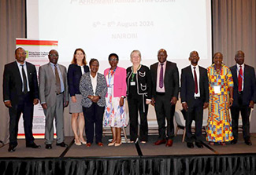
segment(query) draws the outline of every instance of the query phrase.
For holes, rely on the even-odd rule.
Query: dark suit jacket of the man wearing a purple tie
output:
[[[158,75],[158,63],[150,66],[151,78],[152,78],[152,97],[156,96],[157,75]],[[178,99],[180,81],[179,71],[175,63],[166,62],[165,75],[164,75],[165,97],[171,100],[173,97]]]

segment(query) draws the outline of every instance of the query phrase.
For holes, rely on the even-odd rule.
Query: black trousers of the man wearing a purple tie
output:
[[[155,111],[158,119],[158,140],[172,139],[174,137],[173,115],[175,106],[165,95],[156,95],[155,97]],[[167,132],[165,127],[165,119],[167,120]]]

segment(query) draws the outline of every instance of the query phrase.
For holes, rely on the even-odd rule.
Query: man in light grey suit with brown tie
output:
[[[46,149],[54,141],[53,121],[56,122],[57,146],[67,147],[64,142],[63,109],[69,105],[69,91],[66,67],[58,64],[58,52],[50,50],[50,62],[39,67],[39,97],[46,115]]]

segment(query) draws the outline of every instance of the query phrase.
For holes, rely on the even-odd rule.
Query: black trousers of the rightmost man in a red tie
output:
[[[238,140],[238,121],[239,121],[239,112],[241,111],[242,121],[243,121],[243,139],[250,139],[250,108],[249,105],[243,105],[243,93],[238,97],[239,106],[231,107],[232,115],[232,132],[234,140]]]

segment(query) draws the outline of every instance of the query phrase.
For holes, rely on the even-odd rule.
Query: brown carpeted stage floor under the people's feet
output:
[[[102,142],[104,146],[98,147],[95,143],[91,148],[76,146],[73,144],[72,137],[65,137],[65,143],[69,144],[69,148],[57,147],[55,143],[51,150],[46,150],[44,140],[35,140],[36,144],[40,144],[42,148],[33,149],[25,147],[25,140],[18,140],[16,151],[8,152],[8,144],[0,148],[0,157],[33,157],[33,158],[46,158],[46,157],[131,157],[138,156],[139,151],[142,155],[215,155],[215,154],[237,154],[237,153],[256,153],[256,134],[251,134],[252,146],[247,146],[243,142],[243,137],[239,135],[239,142],[235,145],[227,144],[226,146],[214,145],[210,146],[204,142],[204,148],[187,148],[187,144],[182,143],[181,136],[173,138],[173,147],[166,148],[165,144],[159,146],[154,145],[154,141],[158,136],[149,136],[147,144],[131,144],[124,143],[120,147],[108,147],[108,140],[110,137],[103,137]]]

